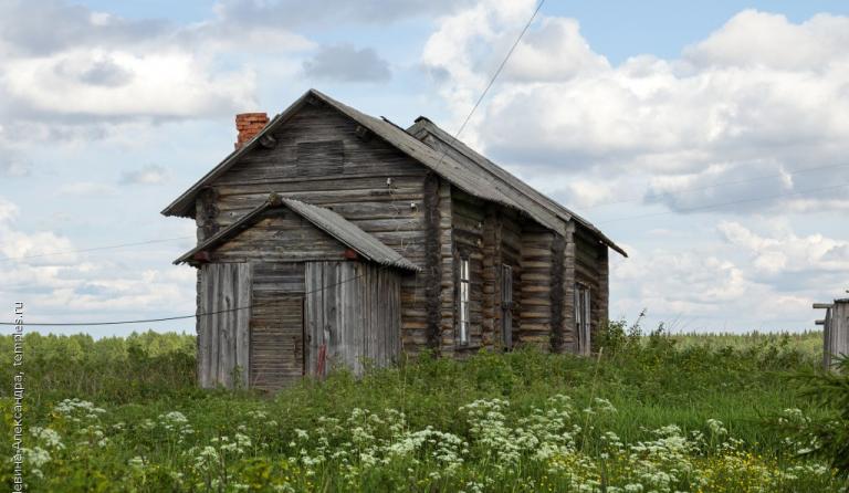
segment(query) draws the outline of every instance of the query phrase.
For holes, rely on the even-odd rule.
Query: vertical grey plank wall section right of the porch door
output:
[[[401,281],[397,271],[359,262],[307,262],[307,368],[344,365],[360,375],[367,361],[386,366],[401,348]]]

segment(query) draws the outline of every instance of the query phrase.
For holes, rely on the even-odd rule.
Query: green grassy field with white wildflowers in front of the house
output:
[[[197,389],[191,336],[30,334],[25,476],[62,492],[836,492],[792,433],[830,417],[793,378],[818,369],[820,337],[611,331],[600,357],[419,355],[271,397]]]

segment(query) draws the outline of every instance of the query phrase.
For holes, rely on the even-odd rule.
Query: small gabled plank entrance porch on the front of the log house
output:
[[[211,254],[198,289],[201,386],[272,390],[399,355],[400,276],[419,269],[332,210],[271,195],[177,262]]]

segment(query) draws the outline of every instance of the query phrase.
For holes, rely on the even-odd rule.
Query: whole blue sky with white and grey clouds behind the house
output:
[[[232,149],[233,114],[316,87],[454,130],[535,7],[116,3],[0,0],[9,318],[193,313],[195,272],[170,263],[193,223],[159,210]],[[849,290],[847,46],[838,1],[549,0],[462,138],[629,251],[612,317],[813,328],[810,303]]]

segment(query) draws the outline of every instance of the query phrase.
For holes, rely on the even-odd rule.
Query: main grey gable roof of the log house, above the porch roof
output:
[[[533,188],[513,175],[510,175],[502,168],[499,168],[491,161],[486,160],[486,162],[490,165],[484,166],[478,160],[471,158],[461,160],[454,159],[452,156],[449,156],[446,153],[440,153],[437,149],[433,149],[407,130],[396,126],[391,122],[366,115],[350,106],[339,103],[338,101],[316,90],[307,91],[283,113],[276,115],[251,140],[244,144],[241,148],[231,153],[227,158],[224,158],[223,161],[221,161],[217,167],[205,175],[203,178],[198,180],[198,182],[192,185],[180,197],[178,197],[174,202],[165,208],[165,210],[163,210],[163,214],[192,217],[192,206],[195,203],[195,199],[205,186],[230,169],[230,167],[233,166],[242,155],[258,145],[263,135],[272,132],[275,127],[290,119],[304,104],[307,104],[307,102],[312,98],[321,101],[324,104],[335,108],[339,113],[348,116],[363,127],[374,133],[376,136],[386,140],[388,144],[398,148],[413,159],[418,160],[464,192],[473,197],[501,203],[503,206],[524,212],[542,225],[557,232],[558,234],[566,233],[566,222],[568,222],[574,217],[569,210],[557,204],[555,201],[545,198],[545,196],[542,196],[542,193],[535,191],[532,193]],[[485,160],[485,158],[483,159]],[[488,169],[492,167],[497,168],[500,171],[495,172],[494,169]],[[541,200],[538,197],[535,198],[535,196],[544,197],[545,200]],[[596,233],[604,243],[627,256],[622,249],[616,245],[607,237],[601,234],[595,227],[589,224],[589,222],[580,218],[576,218],[576,221],[590,228],[590,230]]]

